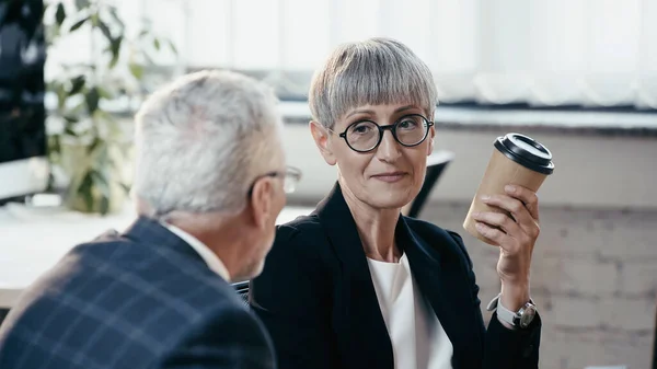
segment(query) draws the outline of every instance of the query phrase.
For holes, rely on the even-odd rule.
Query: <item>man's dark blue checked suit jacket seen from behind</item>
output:
[[[263,325],[182,239],[139,218],[76,246],[0,326],[0,368],[275,367]]]

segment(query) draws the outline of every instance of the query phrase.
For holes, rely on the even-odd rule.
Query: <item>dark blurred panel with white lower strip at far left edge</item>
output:
[[[28,160],[46,162],[43,12],[43,0],[0,0],[0,199],[47,185]]]

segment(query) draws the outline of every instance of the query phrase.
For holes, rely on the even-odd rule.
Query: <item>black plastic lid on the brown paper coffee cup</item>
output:
[[[540,142],[520,134],[507,134],[498,137],[494,143],[499,152],[510,160],[532,171],[552,174],[552,152]]]

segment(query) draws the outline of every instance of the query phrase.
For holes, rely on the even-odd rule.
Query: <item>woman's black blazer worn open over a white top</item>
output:
[[[395,238],[453,345],[454,369],[538,368],[540,318],[511,331],[494,315],[485,328],[472,262],[457,233],[400,217]],[[313,214],[278,228],[250,299],[281,369],[393,369],[365,251],[339,185]]]

